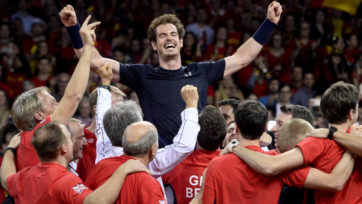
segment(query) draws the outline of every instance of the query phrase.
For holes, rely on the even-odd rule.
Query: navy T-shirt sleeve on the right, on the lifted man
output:
[[[206,72],[209,85],[216,81],[224,79],[225,60],[221,59],[216,62],[199,62],[200,68]]]

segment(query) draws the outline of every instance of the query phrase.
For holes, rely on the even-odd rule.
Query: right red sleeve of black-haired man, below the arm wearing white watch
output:
[[[307,166],[286,171],[281,177],[282,184],[302,188],[310,170],[311,167]]]

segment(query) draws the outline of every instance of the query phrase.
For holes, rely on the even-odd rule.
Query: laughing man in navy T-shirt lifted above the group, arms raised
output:
[[[271,32],[277,26],[282,13],[280,3],[273,1],[268,7],[268,17],[257,32],[246,41],[236,53],[216,62],[191,63],[181,66],[180,50],[185,35],[184,25],[176,16],[166,14],[153,19],[148,28],[148,39],[157,52],[160,65],[126,65],[103,58],[96,49],[91,57],[91,69],[108,63],[113,67],[112,81],[122,83],[135,90],[146,121],[154,124],[159,131],[160,147],[172,143],[181,125],[179,113],[185,107],[179,91],[185,85],[198,87],[199,113],[206,106],[209,85],[220,81],[250,64],[266,44]],[[78,57],[83,53],[79,37],[80,26],[71,5],[59,13],[68,30],[73,48]]]

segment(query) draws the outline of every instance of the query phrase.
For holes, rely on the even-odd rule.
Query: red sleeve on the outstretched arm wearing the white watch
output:
[[[300,141],[296,147],[300,147],[304,156],[304,164],[313,163],[314,160],[320,157],[325,151],[325,139],[308,137]]]

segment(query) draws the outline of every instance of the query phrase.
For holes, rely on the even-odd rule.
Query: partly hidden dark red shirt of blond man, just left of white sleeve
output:
[[[84,128],[85,141],[87,146],[83,146],[83,158],[79,159],[77,164],[77,174],[83,182],[87,180],[87,177],[94,166],[96,166],[96,142],[97,138],[94,133]]]

